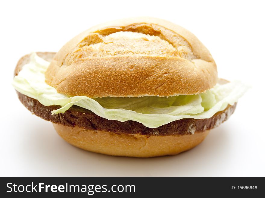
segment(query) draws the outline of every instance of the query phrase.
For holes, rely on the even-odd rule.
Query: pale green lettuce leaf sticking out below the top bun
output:
[[[64,113],[72,105],[77,105],[96,115],[109,120],[133,120],[154,128],[182,118],[210,118],[216,112],[233,105],[248,89],[238,81],[217,84],[212,89],[196,95],[170,97],[104,97],[66,96],[45,83],[45,71],[49,62],[36,53],[30,56],[30,63],[25,64],[14,77],[14,88],[42,105],[60,105],[52,114]]]

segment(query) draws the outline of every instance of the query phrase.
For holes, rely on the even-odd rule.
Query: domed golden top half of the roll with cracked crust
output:
[[[68,96],[198,94],[217,83],[206,47],[166,20],[139,17],[92,27],[56,53],[46,82]]]

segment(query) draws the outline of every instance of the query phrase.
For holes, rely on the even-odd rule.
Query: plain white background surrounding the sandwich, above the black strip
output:
[[[0,176],[265,176],[262,2],[1,1]],[[137,159],[78,149],[31,115],[11,86],[21,56],[56,52],[93,25],[135,16],[185,27],[210,50],[219,77],[252,86],[228,121],[177,156]]]

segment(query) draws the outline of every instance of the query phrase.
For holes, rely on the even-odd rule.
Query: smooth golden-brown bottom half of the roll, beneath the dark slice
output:
[[[53,126],[57,133],[73,146],[106,155],[129,157],[176,155],[197,146],[209,133],[209,130],[206,130],[195,132],[193,135],[146,136],[85,130],[61,124]]]

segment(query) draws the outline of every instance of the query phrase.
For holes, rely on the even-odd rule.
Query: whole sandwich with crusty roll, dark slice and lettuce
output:
[[[25,55],[14,75],[20,102],[64,140],[113,156],[192,149],[247,90],[218,78],[213,57],[191,32],[151,17],[100,24],[57,53]]]

